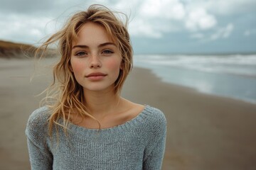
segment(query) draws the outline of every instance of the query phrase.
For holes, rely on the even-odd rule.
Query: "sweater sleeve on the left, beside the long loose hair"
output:
[[[32,170],[50,170],[53,166],[53,155],[46,142],[47,118],[46,110],[42,108],[34,111],[28,118],[26,137]]]

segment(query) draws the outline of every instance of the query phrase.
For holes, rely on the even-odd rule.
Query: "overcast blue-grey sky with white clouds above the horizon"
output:
[[[134,52],[256,52],[255,0],[1,0],[0,39],[36,44],[90,4],[130,16]]]

